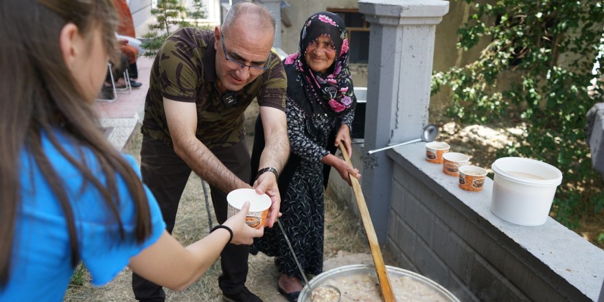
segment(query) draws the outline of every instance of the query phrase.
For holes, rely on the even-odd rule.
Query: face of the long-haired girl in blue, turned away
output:
[[[85,35],[80,37],[81,56],[76,58],[71,73],[82,89],[85,100],[93,102],[107,74],[108,56],[99,27],[95,27]]]

